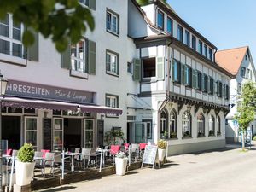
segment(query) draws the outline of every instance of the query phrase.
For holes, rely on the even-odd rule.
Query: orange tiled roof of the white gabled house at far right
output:
[[[219,50],[215,54],[215,61],[218,66],[223,67],[232,75],[236,75],[239,71],[244,55],[247,53],[247,49],[248,46]]]

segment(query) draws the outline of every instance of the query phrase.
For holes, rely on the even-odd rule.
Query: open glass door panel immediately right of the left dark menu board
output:
[[[54,118],[53,120],[53,151],[63,150],[63,119]]]

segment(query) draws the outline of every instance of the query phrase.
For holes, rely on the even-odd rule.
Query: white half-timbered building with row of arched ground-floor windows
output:
[[[233,75],[215,63],[217,48],[161,1],[128,9],[137,48],[131,93],[140,103],[128,109],[137,118],[130,141],[166,138],[168,154],[224,147]]]

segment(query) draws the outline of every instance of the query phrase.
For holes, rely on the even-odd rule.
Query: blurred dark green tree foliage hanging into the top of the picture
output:
[[[148,2],[137,0],[140,5]],[[87,28],[93,31],[95,27],[90,9],[78,0],[1,0],[0,20],[8,13],[16,23],[26,26],[22,35],[26,47],[33,44],[32,32],[40,32],[44,38],[51,38],[57,51],[63,52],[69,41],[78,43]]]

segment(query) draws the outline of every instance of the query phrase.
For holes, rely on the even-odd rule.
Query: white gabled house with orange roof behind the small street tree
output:
[[[228,72],[236,78],[230,81],[230,113],[226,117],[226,140],[227,142],[238,142],[239,129],[234,116],[239,106],[239,95],[241,87],[247,81],[256,80],[256,71],[253,64],[253,57],[248,46],[234,49],[226,49],[217,51],[216,62],[220,67],[224,67]],[[256,133],[256,119],[250,125],[253,135]]]

